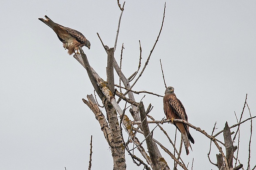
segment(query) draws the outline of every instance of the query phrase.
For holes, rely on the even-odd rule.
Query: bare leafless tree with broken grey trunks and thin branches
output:
[[[99,103],[97,102],[97,97],[95,97],[90,94],[87,95],[87,99],[83,99],[83,102],[92,110],[92,112],[95,114],[95,118],[100,124],[100,128],[103,132],[103,135],[109,145],[109,148],[111,149],[111,154],[113,157],[113,163],[114,163],[114,170],[125,170],[126,165],[126,157],[125,152],[128,152],[131,159],[133,159],[133,162],[137,166],[143,166],[145,169],[150,170],[170,170],[170,169],[177,169],[179,166],[180,168],[187,170],[188,165],[186,165],[181,158],[181,148],[182,148],[182,139],[180,140],[180,145],[177,148],[176,147],[176,136],[175,141],[172,141],[171,138],[168,136],[166,131],[161,127],[161,124],[163,123],[169,123],[170,121],[173,122],[183,122],[184,124],[187,124],[192,129],[195,129],[199,133],[202,133],[206,138],[209,138],[210,142],[210,149],[208,153],[209,162],[216,167],[218,167],[219,170],[239,170],[243,168],[243,164],[239,162],[238,159],[238,153],[239,153],[239,138],[240,138],[240,127],[241,124],[243,124],[246,121],[251,121],[251,135],[252,135],[252,119],[254,119],[256,116],[251,116],[249,106],[247,104],[247,96],[244,103],[243,111],[240,115],[239,120],[237,119],[237,124],[234,124],[232,126],[228,126],[228,122],[226,122],[225,127],[222,131],[219,131],[218,133],[214,134],[214,131],[216,130],[216,124],[213,127],[213,131],[211,135],[206,133],[206,131],[202,130],[200,127],[194,126],[184,120],[181,119],[173,119],[173,120],[158,120],[156,121],[152,116],[149,115],[150,111],[153,109],[151,104],[145,109],[145,106],[141,101],[135,101],[133,94],[140,94],[140,93],[147,93],[150,95],[156,95],[159,97],[163,97],[159,94],[155,94],[153,92],[147,92],[147,91],[136,91],[132,88],[137,83],[137,81],[142,76],[143,72],[145,71],[147,64],[149,63],[150,57],[154,51],[154,48],[159,40],[159,37],[161,35],[161,31],[164,25],[164,18],[165,18],[165,11],[166,11],[166,5],[164,5],[164,13],[163,18],[160,26],[159,33],[156,37],[156,41],[152,47],[152,50],[149,53],[149,56],[147,57],[147,60],[142,67],[141,67],[141,44],[140,44],[140,57],[139,57],[139,64],[138,69],[127,78],[122,70],[122,55],[123,55],[123,45],[121,47],[121,56],[120,56],[120,64],[117,63],[116,58],[114,56],[116,51],[116,44],[118,41],[119,36],[119,28],[121,24],[121,17],[124,11],[125,2],[123,2],[123,5],[119,3],[119,0],[117,0],[118,7],[121,10],[121,14],[119,17],[119,24],[116,32],[116,39],[114,43],[114,47],[109,48],[109,46],[105,45],[103,40],[100,37],[100,34],[97,33],[100,42],[102,43],[102,46],[104,50],[107,53],[107,80],[103,80],[97,72],[90,66],[88,58],[86,54],[83,52],[82,48],[79,48],[80,54],[76,53],[73,55],[78,62],[82,64],[82,66],[86,69],[88,73],[88,77],[90,78],[90,81],[92,83],[92,86],[95,89],[95,92],[97,93],[98,98],[100,98],[105,113],[107,116],[102,113],[102,110],[99,108]],[[161,64],[161,60],[160,60]],[[162,76],[164,79],[164,71],[162,68]],[[118,78],[116,80],[119,80],[119,85],[114,84],[114,70],[116,71],[116,74],[118,75]],[[165,84],[165,80],[164,80]],[[166,84],[165,84],[166,86]],[[115,87],[119,88],[117,90]],[[125,91],[125,92],[122,92]],[[121,103],[124,105],[124,108],[121,108]],[[128,108],[130,108],[128,110]],[[248,108],[250,117],[242,121],[242,116],[244,113],[244,109]],[[128,110],[128,111],[127,111]],[[130,114],[133,119],[129,119],[127,116]],[[235,116],[237,116],[235,114]],[[148,120],[147,118],[151,119]],[[148,124],[155,124],[153,129],[149,128]],[[161,131],[166,135],[168,140],[170,141],[172,145],[173,152],[171,152],[170,149],[162,145],[157,139],[153,137],[153,131],[155,128],[161,129]],[[235,133],[231,133],[230,129],[237,128]],[[128,140],[126,141],[123,137],[123,133],[128,134]],[[144,139],[140,141],[136,135],[137,133],[141,133],[144,135]],[[219,140],[217,138],[218,135],[223,133],[224,142]],[[232,138],[233,135],[233,138]],[[238,135],[238,137],[237,137]],[[238,141],[238,145],[234,146],[235,140]],[[215,147],[218,149],[219,153],[216,154],[216,161],[212,161],[210,159],[211,154],[211,147],[212,143],[215,145]],[[89,169],[92,166],[91,163],[91,155],[92,155],[92,138],[91,138],[91,150],[90,150],[90,161],[89,161]],[[147,146],[147,151],[144,149],[143,146]],[[225,147],[225,150],[221,146]],[[162,152],[166,152],[171,159],[173,159],[174,164],[173,167],[170,168],[170,163],[166,162],[166,159],[162,156],[159,147],[162,149]],[[134,154],[134,149],[137,149],[140,153],[140,155]],[[249,140],[249,156],[248,156],[248,163],[247,163],[247,170],[254,168],[250,167],[250,154],[251,154],[251,137]],[[194,160],[194,159],[193,159]],[[216,163],[214,163],[216,162]],[[168,165],[169,164],[169,165]],[[193,168],[193,163],[191,166],[191,169]]]

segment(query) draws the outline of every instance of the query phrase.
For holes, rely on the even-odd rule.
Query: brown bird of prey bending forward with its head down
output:
[[[53,22],[49,17],[45,15],[44,18],[38,18],[40,21],[48,25],[57,34],[60,41],[63,43],[63,47],[68,49],[69,55],[72,53],[78,53],[78,47],[86,46],[90,49],[90,41],[83,36],[83,34],[77,30],[64,27]]]

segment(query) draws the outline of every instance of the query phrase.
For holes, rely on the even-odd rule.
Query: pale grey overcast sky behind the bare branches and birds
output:
[[[255,116],[255,9],[256,2],[252,0],[167,1],[161,37],[133,90],[164,95],[161,59],[166,83],[175,88],[194,126],[211,134],[215,122],[216,132],[223,129],[226,121],[230,126],[235,124],[234,112],[238,116],[241,114],[246,94],[251,114]],[[122,68],[127,77],[137,69],[139,40],[142,64],[145,63],[159,33],[163,10],[163,0],[126,1],[115,58],[120,60],[121,44],[124,43]],[[81,64],[64,50],[55,32],[38,20],[44,15],[82,32],[90,40],[91,49],[83,47],[83,50],[91,66],[106,80],[107,56],[96,32],[104,44],[114,46],[120,15],[116,0],[2,0],[0,169],[87,169],[91,135],[92,169],[112,169],[111,151],[100,125],[81,100],[93,93],[90,80]],[[140,101],[143,96],[135,95],[135,98]],[[143,102],[145,107],[152,103],[154,108],[150,115],[155,119],[164,117],[161,97],[147,94]],[[247,117],[249,112],[245,109],[243,119]],[[239,159],[245,166],[249,123],[241,126]],[[175,126],[162,126],[173,138]],[[161,131],[157,128],[155,131],[154,138],[171,149]],[[253,143],[256,142],[255,131],[254,127]],[[195,144],[188,156],[183,148],[185,163],[190,162],[191,169],[194,158],[193,169],[217,169],[207,158],[209,139],[193,129],[190,132]],[[138,137],[142,139],[141,135]],[[222,135],[219,139],[222,140]],[[253,167],[254,145],[251,151]],[[140,156],[137,151],[135,154]],[[216,154],[218,150],[213,146],[211,160],[215,163]],[[164,152],[163,156],[173,168],[172,159]],[[133,164],[127,154],[126,163],[127,169],[143,169]]]

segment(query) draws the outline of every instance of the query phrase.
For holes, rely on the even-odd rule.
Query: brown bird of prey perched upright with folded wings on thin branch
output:
[[[176,97],[174,94],[174,88],[173,87],[167,87],[164,92],[164,113],[166,115],[167,119],[183,119],[187,121],[187,114],[185,111],[185,108],[181,101]],[[183,142],[186,148],[187,155],[190,153],[188,148],[190,147],[192,150],[192,147],[190,146],[190,141],[194,144],[194,139],[190,135],[190,132],[188,130],[188,126],[181,122],[172,122],[176,128],[180,131]]]

